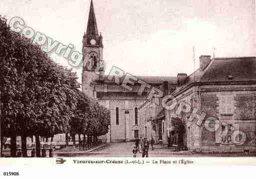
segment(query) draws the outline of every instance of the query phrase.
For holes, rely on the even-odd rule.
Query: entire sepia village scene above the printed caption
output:
[[[255,0],[1,0],[0,157],[256,165]]]

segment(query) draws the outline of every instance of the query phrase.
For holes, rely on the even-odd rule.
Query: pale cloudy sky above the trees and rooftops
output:
[[[199,56],[256,56],[255,0],[93,0],[105,73],[137,76],[194,71]],[[0,13],[81,51],[90,0],[1,0]],[[214,50],[215,49],[215,50]],[[51,53],[57,63],[67,60]],[[74,68],[81,82],[81,68]]]

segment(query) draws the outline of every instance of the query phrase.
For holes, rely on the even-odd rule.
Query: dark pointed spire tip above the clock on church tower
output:
[[[91,5],[90,5],[90,12],[89,12],[86,35],[94,36],[94,37],[99,35],[92,0],[91,0]]]

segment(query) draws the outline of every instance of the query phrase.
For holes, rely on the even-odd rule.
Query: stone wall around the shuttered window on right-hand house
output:
[[[215,88],[217,86],[214,86]],[[228,91],[228,89],[231,91]],[[205,130],[202,126],[202,150],[203,151],[217,151],[217,152],[244,152],[245,150],[256,150],[256,93],[254,91],[239,91],[241,86],[220,86],[215,91],[209,88],[208,92],[202,93],[201,104],[202,109],[207,113],[207,116],[217,117],[220,121],[220,127],[215,132]],[[222,91],[222,89],[225,89]],[[232,114],[223,114],[221,110],[221,100],[225,96],[231,96],[232,99]],[[229,134],[227,138],[232,135],[235,136],[236,131],[242,131],[246,136],[246,141],[243,145],[235,144],[233,141],[227,143],[225,140],[225,129],[228,125]],[[215,143],[213,142],[215,138]]]

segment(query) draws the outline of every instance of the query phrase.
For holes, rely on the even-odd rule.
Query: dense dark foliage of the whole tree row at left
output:
[[[0,68],[1,135],[100,136],[108,132],[109,110],[79,91],[76,73],[12,31],[2,16]]]

